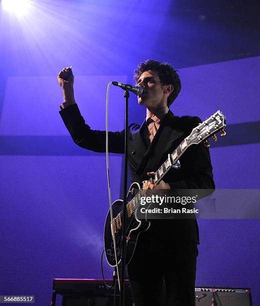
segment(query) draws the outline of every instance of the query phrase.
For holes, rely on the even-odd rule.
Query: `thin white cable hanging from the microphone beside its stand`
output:
[[[113,248],[114,248],[114,258],[115,258],[115,265],[116,265],[116,273],[118,278],[118,286],[120,291],[120,281],[119,281],[119,271],[118,271],[118,261],[117,261],[117,254],[116,254],[116,245],[115,245],[115,234],[114,234],[114,227],[112,224],[113,221],[113,212],[112,212],[112,201],[111,201],[111,188],[110,188],[110,179],[109,179],[109,163],[108,163],[108,92],[109,87],[112,82],[107,84],[106,90],[106,103],[105,103],[105,158],[106,158],[106,175],[107,175],[107,185],[108,185],[108,197],[109,197],[109,207],[110,207],[110,220],[111,220],[111,233],[113,239]]]

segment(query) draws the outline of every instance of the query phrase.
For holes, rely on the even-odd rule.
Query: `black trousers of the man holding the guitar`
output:
[[[135,306],[194,306],[197,244],[141,233],[127,265]]]

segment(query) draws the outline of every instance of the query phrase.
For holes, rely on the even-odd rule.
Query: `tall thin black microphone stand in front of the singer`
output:
[[[124,184],[123,184],[123,222],[122,222],[122,240],[121,240],[121,270],[120,270],[120,306],[124,305],[125,292],[125,259],[126,259],[126,196],[127,196],[127,160],[128,160],[128,97],[129,91],[125,90],[125,115],[124,115]]]

